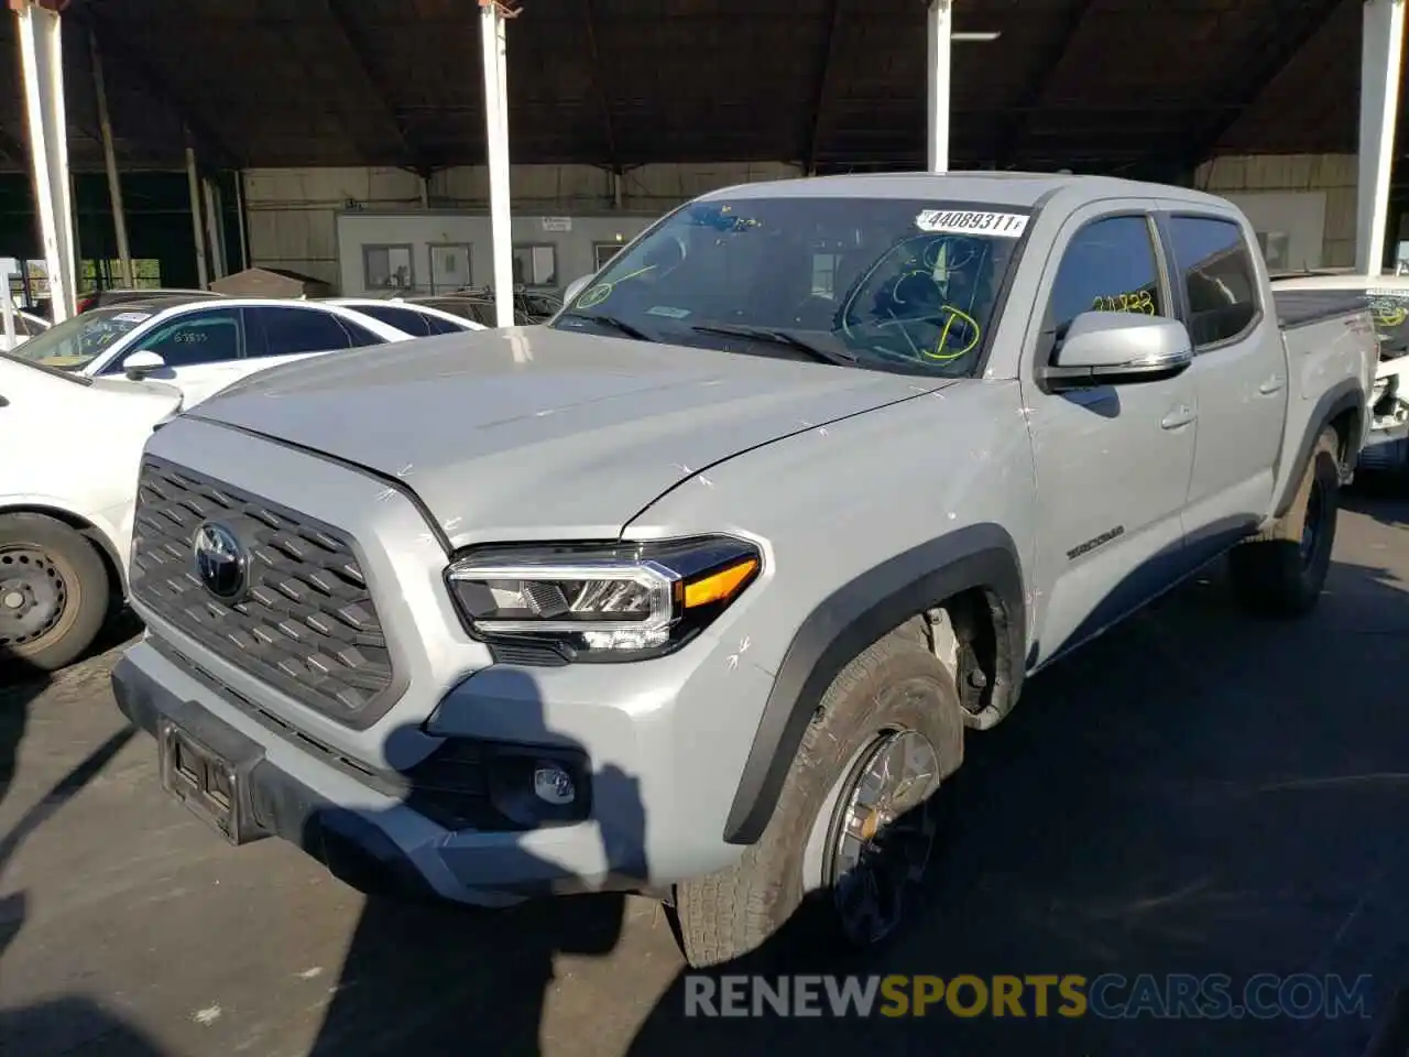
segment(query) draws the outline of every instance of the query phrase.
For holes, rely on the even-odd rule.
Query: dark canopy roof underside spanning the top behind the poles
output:
[[[520,0],[514,162],[919,168],[923,0]],[[1191,165],[1354,151],[1360,0],[957,0],[951,163]],[[475,0],[73,0],[70,163],[101,168],[87,28],[123,168],[480,163]],[[14,90],[0,161],[27,166]]]

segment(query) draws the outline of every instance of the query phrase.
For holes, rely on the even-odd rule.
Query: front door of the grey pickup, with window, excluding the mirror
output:
[[[1160,262],[1151,203],[1103,202],[1068,220],[1038,289],[1023,371],[1041,510],[1030,664],[1099,633],[1182,572],[1198,417],[1188,372],[1065,392],[1037,378],[1081,313],[1172,317]]]

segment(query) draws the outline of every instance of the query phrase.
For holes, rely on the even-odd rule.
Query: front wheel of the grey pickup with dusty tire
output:
[[[936,792],[962,758],[948,671],[900,633],[867,648],[823,695],[759,841],[734,867],[676,885],[686,961],[758,951],[809,895],[820,908],[809,944],[845,950],[896,934],[934,844]]]

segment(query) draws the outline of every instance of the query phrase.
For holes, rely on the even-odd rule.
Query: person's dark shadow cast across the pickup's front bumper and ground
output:
[[[572,738],[554,731],[544,719],[537,685],[523,674],[496,674],[492,698],[471,707],[514,709],[514,740],[548,746],[557,753],[586,753]],[[454,717],[447,717],[452,720]],[[469,724],[483,717],[465,713]],[[393,731],[392,741],[399,737]],[[502,771],[504,782],[496,805],[538,810],[533,781],[537,767]],[[421,777],[417,777],[417,775]],[[433,796],[424,769],[409,769],[406,799]],[[434,771],[438,779],[445,769]],[[585,775],[583,775],[585,778]],[[599,817],[599,847],[579,854],[600,857],[617,884],[644,882],[648,875],[641,848],[645,841],[645,809],[634,777],[604,767],[576,785],[589,795]],[[376,820],[395,830],[397,809]],[[493,809],[490,809],[492,812]],[[502,817],[502,816],[500,816]],[[335,874],[364,891],[376,892],[375,877],[364,882],[362,863],[349,857],[338,837],[366,833],[362,817],[340,812],[314,816],[304,829],[304,844],[323,857]],[[341,848],[341,851],[340,851]],[[565,853],[572,854],[572,853]],[[466,882],[492,888],[496,878],[537,878],[548,885],[569,882],[571,871],[523,847],[510,833],[478,848],[441,850]],[[356,925],[333,1002],[310,1053],[325,1057],[359,1054],[461,1054],[471,1047],[493,1054],[540,1053],[541,1016],[554,985],[558,954],[606,957],[621,939],[626,896],[578,895],[486,912],[444,905],[406,905],[372,896]]]

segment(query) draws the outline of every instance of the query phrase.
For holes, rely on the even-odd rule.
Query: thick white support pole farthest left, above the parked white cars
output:
[[[55,323],[73,316],[73,194],[69,185],[69,127],[63,109],[63,41],[59,16],[31,0],[10,0],[20,34],[24,109],[34,171],[34,202],[49,278]]]

